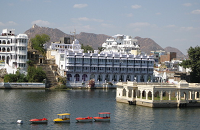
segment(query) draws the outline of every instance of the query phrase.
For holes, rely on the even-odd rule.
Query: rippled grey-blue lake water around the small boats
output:
[[[35,90],[0,89],[0,130],[186,130],[200,129],[200,108],[149,108],[118,103],[115,89]],[[110,122],[77,123],[76,117],[111,112]],[[54,123],[70,113],[70,123]],[[30,124],[32,118],[47,124]],[[17,124],[18,119],[23,124]]]

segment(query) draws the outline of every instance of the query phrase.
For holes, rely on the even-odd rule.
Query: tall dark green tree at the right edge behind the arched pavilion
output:
[[[193,83],[200,83],[200,47],[190,47],[188,49],[188,60],[184,60],[180,65],[184,68],[191,68],[190,79]]]

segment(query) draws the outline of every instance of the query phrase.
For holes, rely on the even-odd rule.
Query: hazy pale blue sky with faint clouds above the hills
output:
[[[184,54],[200,46],[199,0],[0,0],[0,30],[24,33],[37,24],[69,34],[151,38]]]

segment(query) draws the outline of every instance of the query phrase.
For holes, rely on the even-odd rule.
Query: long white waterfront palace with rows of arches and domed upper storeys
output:
[[[105,83],[118,81],[147,82],[153,79],[153,56],[140,55],[137,40],[130,36],[115,35],[102,44],[104,51],[83,53],[77,39],[72,44],[52,43],[59,73],[68,82],[83,83],[90,79]],[[138,55],[139,54],[139,55]]]

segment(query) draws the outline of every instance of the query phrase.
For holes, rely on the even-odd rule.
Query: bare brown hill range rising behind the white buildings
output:
[[[61,37],[71,36],[70,34],[66,34],[56,28],[53,29],[48,27],[40,27],[37,25],[33,25],[33,27],[28,29],[25,34],[27,34],[29,38],[35,37],[36,34],[47,34],[50,36],[50,42],[58,42]],[[81,32],[80,34],[76,34],[75,37],[81,44],[90,45],[94,49],[98,49],[98,47],[101,47],[102,43],[104,43],[106,39],[110,38],[111,36],[105,34]],[[177,57],[185,57],[184,54],[176,48],[166,47],[163,49],[151,38],[141,38],[137,36],[135,39],[138,40],[138,45],[140,45],[141,51],[147,54],[150,54],[151,51],[165,50],[167,52],[177,52]]]

